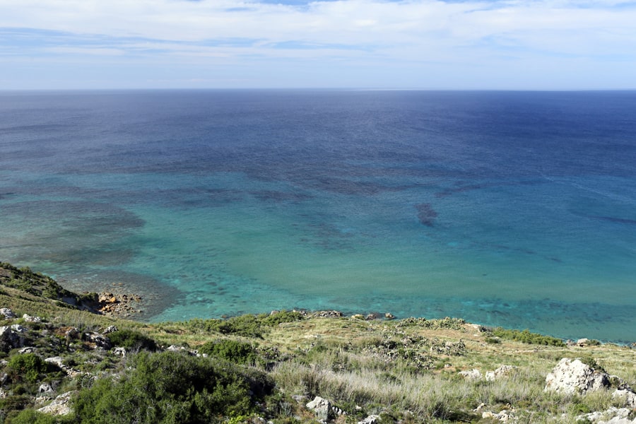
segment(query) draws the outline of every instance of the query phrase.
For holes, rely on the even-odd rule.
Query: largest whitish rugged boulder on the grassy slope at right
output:
[[[546,387],[543,390],[584,394],[609,385],[609,376],[606,373],[593,370],[578,359],[563,358],[546,377]]]

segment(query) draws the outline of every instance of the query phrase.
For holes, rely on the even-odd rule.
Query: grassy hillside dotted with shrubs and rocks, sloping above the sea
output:
[[[452,318],[366,320],[281,311],[144,324],[82,310],[95,295],[42,290],[54,282],[31,271],[16,274],[8,264],[0,268],[5,270],[0,270],[0,308],[16,314],[4,320],[0,315],[0,424],[315,423],[319,418],[575,423],[583,413],[624,405],[609,389],[543,391],[546,375],[561,358],[582,358],[636,386],[632,346],[594,341],[566,346],[549,336]],[[502,365],[511,366],[502,376],[483,377]],[[460,375],[471,370],[482,377]],[[62,394],[66,404],[56,400]],[[307,408],[315,396],[330,407]],[[36,411],[47,405],[48,413]]]

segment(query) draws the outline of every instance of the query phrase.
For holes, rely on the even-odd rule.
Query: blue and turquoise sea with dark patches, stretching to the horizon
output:
[[[636,92],[0,93],[0,261],[146,322],[461,317],[636,341]]]

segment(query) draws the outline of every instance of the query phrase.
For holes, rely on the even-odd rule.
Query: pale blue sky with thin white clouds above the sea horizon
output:
[[[636,1],[0,0],[0,90],[636,88]]]

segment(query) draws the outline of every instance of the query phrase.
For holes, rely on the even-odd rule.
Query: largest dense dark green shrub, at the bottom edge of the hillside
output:
[[[118,380],[98,379],[74,403],[81,423],[220,423],[257,411],[269,379],[185,353],[139,353]]]

